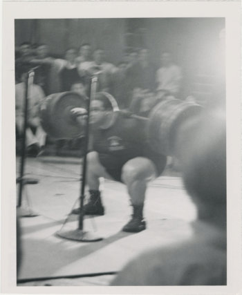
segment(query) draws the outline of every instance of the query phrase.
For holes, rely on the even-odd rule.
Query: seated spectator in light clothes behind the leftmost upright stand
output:
[[[21,137],[24,133],[24,102],[28,67],[19,69],[21,82],[15,85],[15,118],[17,134]],[[41,87],[32,84],[28,89],[28,125],[26,129],[26,146],[28,155],[36,156],[44,149],[46,133],[41,127],[39,119],[39,105],[44,100],[44,92]]]

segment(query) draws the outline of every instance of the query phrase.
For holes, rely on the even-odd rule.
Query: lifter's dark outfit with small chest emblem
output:
[[[121,181],[122,166],[136,157],[152,160],[158,175],[165,169],[166,157],[151,150],[146,129],[147,122],[118,114],[109,129],[93,131],[93,150],[115,180]]]

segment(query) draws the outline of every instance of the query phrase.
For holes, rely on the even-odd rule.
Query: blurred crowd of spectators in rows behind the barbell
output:
[[[63,58],[50,57],[46,44],[24,42],[16,51],[16,79],[20,80],[22,66],[35,69],[35,84],[41,86],[45,95],[70,91],[74,82],[80,81],[87,88],[93,73],[98,75],[98,91],[109,91],[120,104],[127,108],[131,104],[133,91],[155,93],[163,91],[179,95],[181,85],[180,68],[169,53],[163,53],[161,67],[151,62],[149,50],[129,50],[115,65],[106,58],[105,50],[92,50],[90,44],[83,44],[80,50],[68,48]]]

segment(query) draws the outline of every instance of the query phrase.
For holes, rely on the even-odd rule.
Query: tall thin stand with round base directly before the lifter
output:
[[[97,88],[97,75],[94,75],[91,79],[91,95],[87,105],[87,119],[85,128],[85,144],[84,144],[84,159],[82,164],[82,185],[80,190],[80,215],[78,228],[71,231],[57,231],[57,236],[66,238],[68,240],[77,240],[80,242],[97,242],[102,240],[101,237],[97,236],[91,231],[84,231],[84,198],[85,198],[85,185],[86,185],[86,166],[87,166],[87,153],[89,149],[89,117],[90,117],[90,104],[91,100],[94,99]]]

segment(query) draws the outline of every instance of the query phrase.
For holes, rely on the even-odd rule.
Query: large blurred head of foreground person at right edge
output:
[[[184,124],[177,146],[185,187],[196,204],[198,218],[225,227],[225,112],[214,109]]]

